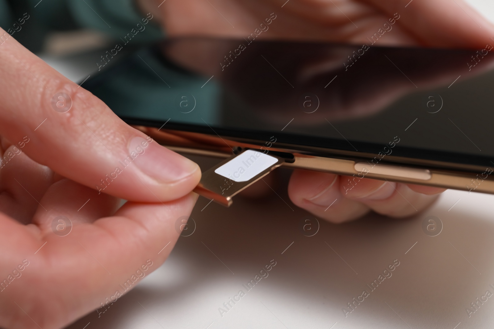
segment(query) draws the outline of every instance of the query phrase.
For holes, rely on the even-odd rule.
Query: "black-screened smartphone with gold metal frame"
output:
[[[494,193],[492,49],[175,38],[84,87],[176,151]]]

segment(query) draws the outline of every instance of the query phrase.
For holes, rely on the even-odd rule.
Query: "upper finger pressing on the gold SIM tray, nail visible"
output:
[[[197,164],[146,140],[12,37],[0,47],[0,63],[0,131],[34,161],[141,202],[179,198],[199,182]]]

